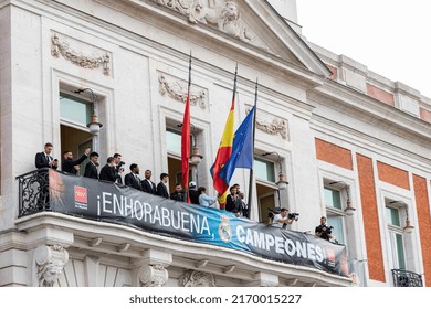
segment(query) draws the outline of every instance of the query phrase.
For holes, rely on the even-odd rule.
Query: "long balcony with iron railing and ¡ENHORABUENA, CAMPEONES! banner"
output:
[[[220,264],[220,258],[213,258],[212,253],[196,259],[195,247],[200,249],[204,245],[207,251],[223,251],[229,260],[221,270],[224,275],[235,271],[232,262],[238,259],[238,265],[241,260],[241,267],[252,274],[271,263],[271,268],[281,274],[276,277],[282,285],[351,284],[346,248],[314,235],[52,169],[32,171],[17,179],[18,228],[41,230],[38,235],[50,235],[50,242],[56,237],[55,243],[67,245],[71,252],[86,248],[93,254],[102,251],[119,257],[141,257],[143,249],[148,249],[148,241],[143,237],[149,235],[157,238],[156,247],[158,242],[159,246],[171,243],[176,247],[171,254],[175,258],[178,254],[180,267],[186,256],[192,267]],[[117,247],[108,248],[113,244]],[[249,257],[245,264],[244,256]],[[241,279],[250,281],[254,277],[246,275]]]

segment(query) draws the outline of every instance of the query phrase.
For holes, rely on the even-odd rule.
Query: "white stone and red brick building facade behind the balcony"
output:
[[[430,285],[430,98],[307,42],[295,1],[270,2],[278,12],[261,0],[0,1],[0,286]],[[17,177],[46,141],[59,159],[119,152],[156,183],[168,172],[172,191],[190,53],[203,157],[191,179],[216,194],[209,168],[238,65],[235,127],[259,79],[251,220],[287,206],[301,214],[292,228],[314,233],[327,216],[350,277],[109,222],[19,215]],[[248,191],[249,171],[234,182]]]

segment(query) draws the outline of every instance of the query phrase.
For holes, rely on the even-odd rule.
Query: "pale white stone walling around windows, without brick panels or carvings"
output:
[[[282,6],[281,1],[272,2],[275,8]],[[287,8],[283,12],[296,21],[296,12],[293,10],[296,6],[293,3],[294,1],[290,1],[287,7],[283,7]],[[318,50],[319,55],[328,63],[339,62],[336,79],[338,84],[334,84],[335,82],[323,78],[322,72],[311,72],[312,68],[318,71],[318,61],[298,65],[298,58],[306,62],[306,51],[297,54],[295,64],[292,64],[285,61],[290,60],[287,56],[265,54],[259,46],[231,40],[228,34],[220,34],[214,28],[195,26],[185,17],[169,14],[147,2],[140,3],[141,7],[118,1],[106,1],[105,4],[84,0],[49,3],[29,0],[15,1],[14,6],[4,6],[0,10],[0,50],[4,58],[0,66],[0,226],[4,231],[18,226],[20,231],[29,232],[25,237],[20,232],[8,234],[8,241],[0,243],[0,286],[32,285],[32,254],[44,243],[61,244],[71,253],[59,286],[138,285],[136,268],[146,264],[134,258],[148,247],[162,247],[164,239],[150,239],[147,244],[140,239],[143,235],[129,235],[129,232],[119,236],[109,235],[107,244],[105,239],[101,241],[105,245],[104,249],[122,256],[123,260],[119,264],[114,257],[99,260],[99,248],[95,244],[97,237],[101,237],[97,230],[101,226],[87,226],[90,236],[81,239],[84,236],[76,235],[76,230],[83,228],[78,221],[62,222],[61,226],[67,232],[55,228],[61,221],[56,217],[51,221],[41,219],[38,223],[25,219],[17,221],[15,177],[34,168],[34,154],[43,149],[46,141],[54,143],[54,157],[61,158],[59,92],[88,87],[97,94],[99,121],[104,125],[97,143],[99,161],[105,162],[106,157],[120,152],[126,166],[135,162],[140,166],[141,171],[151,169],[153,180],[158,182],[160,172],[168,169],[166,127],[182,122],[183,113],[182,103],[160,93],[159,78],[162,75],[168,82],[187,83],[190,50],[193,55],[192,92],[206,92],[203,108],[191,107],[191,122],[199,131],[198,145],[204,156],[198,167],[199,184],[207,187],[210,195],[216,192],[209,168],[216,157],[229,113],[236,63],[239,81],[235,127],[254,103],[256,77],[260,83],[257,120],[266,125],[274,120],[284,121],[285,136],[256,130],[255,147],[257,154],[276,151],[284,159],[283,173],[290,185],[286,192],[282,192],[282,203],[288,203],[292,212],[301,213],[299,221],[294,223],[294,230],[313,233],[325,212],[320,193],[322,178],[336,174],[351,184],[353,200],[358,205],[351,220],[354,227],[349,239],[349,243],[356,245],[349,248],[349,253],[358,259],[366,258],[358,179],[350,172],[318,162],[315,137],[348,146],[354,149],[354,153],[366,153],[375,160],[385,158],[406,170],[430,178],[427,159],[430,149],[425,142],[429,141],[430,132],[423,130],[425,125],[414,118],[419,115],[418,102],[422,98],[407,86],[396,87],[397,108],[381,107],[365,95],[369,78],[366,66],[353,60],[335,57]],[[80,11],[73,8],[80,8]],[[69,44],[72,54],[87,58],[107,54],[107,72],[103,67],[85,68],[61,54],[54,56],[51,51],[54,34],[61,42]],[[271,44],[276,45],[274,50],[287,50],[288,44],[292,44],[293,50],[299,50],[302,43],[292,38],[287,40],[283,35],[272,35]],[[386,118],[388,119],[382,120]],[[232,183],[239,182],[248,190],[248,171],[239,170]],[[389,189],[380,183],[378,185],[381,199],[381,192]],[[399,192],[395,190],[395,193]],[[413,200],[413,196],[408,198]],[[255,194],[253,201],[252,214],[257,220]],[[416,237],[411,247],[419,252],[418,235]],[[133,244],[133,249],[123,252],[122,248],[128,242]],[[232,257],[229,252],[196,248],[195,244],[174,242],[171,246],[169,254],[174,255],[174,265],[169,266],[166,262],[166,267],[175,270],[169,275],[168,286],[176,285],[181,270],[188,267],[199,268],[190,257],[198,252],[203,251],[207,258],[216,254],[220,258]],[[78,248],[83,247],[90,252],[88,255],[77,254]],[[188,257],[181,259],[183,255]],[[125,262],[128,258],[133,262]],[[303,277],[320,280],[320,274],[307,275],[306,270],[295,273],[240,254],[234,258],[236,264],[245,265],[243,269],[233,270],[231,265],[211,265],[204,270],[217,274],[221,286],[229,285],[230,279],[239,285],[246,281],[274,284],[278,280],[278,277],[274,277],[275,270],[281,271],[281,277],[285,278],[301,273]],[[148,264],[148,260],[145,263]],[[411,263],[418,271],[421,270],[420,259]],[[272,274],[265,273],[266,267]],[[259,274],[255,276],[253,274],[256,269]],[[280,285],[287,285],[283,280]],[[320,285],[347,285],[344,280],[333,278],[322,280]]]

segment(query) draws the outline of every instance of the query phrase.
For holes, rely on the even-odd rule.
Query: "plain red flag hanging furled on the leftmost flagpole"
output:
[[[189,85],[187,89],[185,117],[182,119],[182,129],[181,129],[181,175],[182,175],[182,188],[185,189],[188,203],[190,203],[190,196],[189,196],[190,84],[191,84],[191,54],[189,60]]]

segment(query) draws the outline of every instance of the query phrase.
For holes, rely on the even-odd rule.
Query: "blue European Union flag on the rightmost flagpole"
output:
[[[253,169],[254,106],[233,136],[232,154],[220,170],[220,178],[229,185],[236,168]]]

